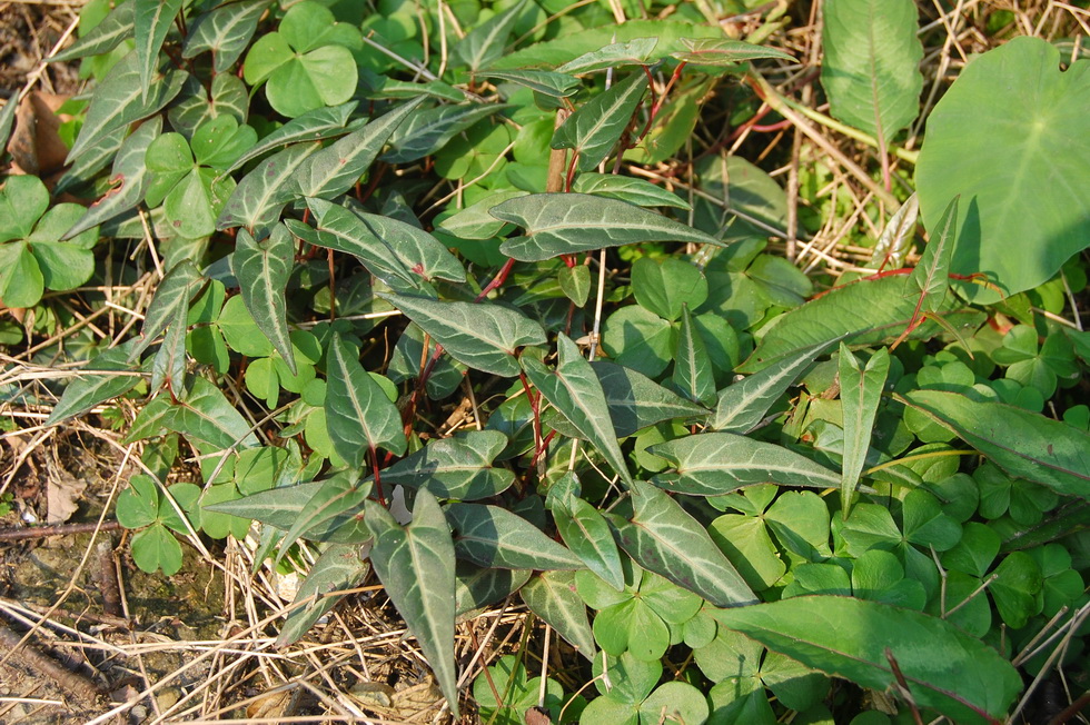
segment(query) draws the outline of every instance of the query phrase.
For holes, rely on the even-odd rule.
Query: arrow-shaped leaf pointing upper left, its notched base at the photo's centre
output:
[[[424,328],[454,359],[505,378],[519,373],[517,348],[546,341],[541,325],[498,305],[440,302],[408,295],[382,297]]]

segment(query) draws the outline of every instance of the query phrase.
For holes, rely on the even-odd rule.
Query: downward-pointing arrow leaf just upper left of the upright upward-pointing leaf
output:
[[[241,288],[242,302],[293,375],[297,371],[295,349],[288,337],[284,292],[294,264],[295,244],[284,225],[272,227],[272,234],[261,241],[254,239],[246,229],[239,229],[235,237],[231,272]]]

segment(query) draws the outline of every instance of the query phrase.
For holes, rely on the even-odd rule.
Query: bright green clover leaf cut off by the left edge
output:
[[[0,189],[0,300],[6,306],[32,307],[46,289],[73,289],[91,278],[98,228],[60,240],[83,212],[78,203],[50,209],[49,191],[36,177],[8,179]]]

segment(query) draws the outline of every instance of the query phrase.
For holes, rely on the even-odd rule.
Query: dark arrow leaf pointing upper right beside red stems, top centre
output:
[[[579,160],[576,168],[587,171],[602,163],[647,90],[647,78],[633,73],[610,90],[584,103],[553,133],[554,149],[573,149]]]

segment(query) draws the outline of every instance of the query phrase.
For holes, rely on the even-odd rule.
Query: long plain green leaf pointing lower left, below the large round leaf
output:
[[[737,370],[756,373],[783,357],[835,338],[843,338],[851,346],[892,342],[912,322],[920,301],[919,295],[905,296],[904,289],[901,275],[836,287],[781,315]],[[975,327],[984,319],[981,312],[963,310],[949,298],[937,311],[954,329]],[[929,339],[943,330],[938,322],[928,320],[908,337]]]

